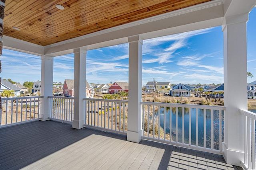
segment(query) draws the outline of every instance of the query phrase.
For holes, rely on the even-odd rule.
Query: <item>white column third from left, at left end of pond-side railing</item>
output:
[[[142,39],[128,37],[129,42],[129,103],[127,140],[140,142],[142,136]]]

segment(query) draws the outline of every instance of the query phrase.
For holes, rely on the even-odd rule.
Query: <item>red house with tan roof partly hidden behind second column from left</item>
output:
[[[65,79],[63,84],[63,94],[68,97],[74,97],[74,80]],[[94,86],[86,80],[86,98],[93,98]]]

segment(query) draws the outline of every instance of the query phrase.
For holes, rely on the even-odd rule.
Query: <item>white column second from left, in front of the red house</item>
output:
[[[85,124],[86,54],[82,48],[74,49],[74,119],[73,128],[81,129]]]

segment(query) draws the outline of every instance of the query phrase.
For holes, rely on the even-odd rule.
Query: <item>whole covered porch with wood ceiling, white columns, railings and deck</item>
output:
[[[0,6],[3,7],[3,2]],[[10,124],[7,124],[9,127],[1,129],[4,135],[1,136],[0,145],[5,145],[6,151],[3,152],[1,147],[1,168],[21,169],[30,166],[27,168],[57,169],[62,168],[63,165],[66,169],[190,169],[195,167],[228,169],[233,168],[230,166],[232,164],[243,166],[245,169],[255,169],[256,115],[248,111],[246,88],[246,24],[247,21],[250,22],[249,13],[254,6],[256,6],[256,0],[6,1],[4,36],[2,37],[4,48],[38,55],[42,64],[39,68],[41,69],[41,96],[37,96],[40,106],[39,111],[34,112],[35,115],[38,114],[38,118],[32,120],[31,112],[26,112],[28,120],[22,121],[25,122],[22,126],[15,125],[12,122],[14,119],[11,119]],[[143,115],[147,114],[145,108],[156,108],[159,104],[142,102],[143,41],[216,26],[221,26],[223,31],[224,106],[166,103],[162,104],[162,108],[174,107],[176,111],[179,108],[182,108],[182,111],[189,108],[186,109],[189,112],[186,114],[189,115],[188,118],[191,117],[192,109],[203,110],[202,115],[218,112],[221,117],[218,125],[221,127],[220,130],[223,129],[223,133],[211,131],[211,140],[206,138],[204,133],[202,146],[197,145],[198,138],[192,142],[191,133],[188,134],[192,131],[191,128],[186,131],[176,128],[176,140],[173,141],[168,140],[166,134],[164,139],[158,138],[156,134],[149,135],[143,123]],[[125,128],[118,129],[120,124],[115,123],[114,126],[108,127],[107,123],[103,123],[110,118],[106,116],[109,112],[99,114],[103,113],[100,111],[106,111],[105,109],[110,110],[108,107],[112,106],[110,105],[112,100],[86,98],[85,64],[88,51],[124,43],[128,45],[122,50],[129,53],[129,101],[118,100],[118,104],[123,102],[124,107],[119,107],[119,111],[121,109],[121,111],[128,111],[128,116],[123,116],[127,122],[124,123]],[[62,101],[68,100],[68,102],[65,103],[66,105],[63,103],[63,107],[56,110],[62,105],[56,102],[59,96],[58,98],[52,96],[54,57],[71,53],[74,54],[74,99],[61,98]],[[170,74],[163,74],[163,76],[168,77]],[[10,100],[9,102],[14,104],[11,99],[2,100]],[[100,109],[94,105],[89,110],[87,106],[89,104],[93,106],[92,104],[95,103],[99,107],[101,103],[106,105]],[[114,103],[113,107],[118,105],[116,104]],[[154,107],[151,107],[152,105]],[[67,106],[74,107],[69,110]],[[10,109],[12,112],[1,111],[2,117],[14,115],[14,108],[10,106]],[[26,110],[28,111],[27,108]],[[208,113],[209,110],[210,113]],[[97,122],[101,117],[106,117],[102,125],[101,122]],[[38,121],[39,119],[41,121]],[[72,125],[47,121],[49,119],[65,121]],[[182,125],[191,127],[192,124],[197,125],[198,121],[203,121],[206,125],[206,116],[202,120],[189,119]],[[3,123],[4,121],[1,122],[1,127]],[[213,121],[210,124],[211,127],[215,125]],[[222,125],[224,125],[223,128]],[[63,131],[64,127],[66,127],[65,131]],[[116,134],[111,135],[112,133],[104,133],[104,131]],[[206,127],[203,131],[206,132]],[[118,135],[120,133],[124,136]],[[178,136],[182,137],[185,133],[188,135],[188,141],[182,140],[184,138],[178,140]],[[82,135],[84,135],[83,139],[87,140],[81,139]],[[216,136],[223,139],[223,141],[219,140],[218,148],[214,147]],[[17,140],[22,137],[25,139],[18,145]],[[127,141],[120,142],[120,138]],[[6,141],[3,142],[3,140]],[[159,145],[153,141],[168,145]],[[210,146],[206,143],[210,143]],[[31,147],[35,145],[36,147]],[[193,150],[187,150],[188,148]],[[212,153],[218,156],[213,156]]]

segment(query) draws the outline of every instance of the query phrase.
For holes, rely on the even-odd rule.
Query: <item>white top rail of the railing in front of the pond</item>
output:
[[[214,109],[214,110],[225,110],[224,106],[208,106],[208,105],[197,105],[197,104],[173,104],[173,103],[159,103],[159,102],[140,102],[140,104],[154,105],[154,106],[167,106],[167,107],[190,107],[198,109]]]

